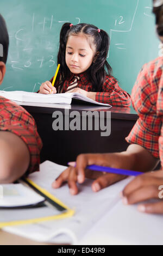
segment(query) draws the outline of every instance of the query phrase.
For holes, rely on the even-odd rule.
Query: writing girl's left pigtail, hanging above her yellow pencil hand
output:
[[[68,31],[70,31],[70,24],[71,23],[65,23],[62,26],[60,31],[60,45],[59,45],[59,52],[57,57],[57,63],[60,64],[60,69],[55,82],[56,84],[55,87],[57,91],[59,86],[61,89],[63,82],[66,80],[68,76],[70,76],[70,70],[68,69],[66,65],[66,60],[65,60],[66,42],[67,42]]]

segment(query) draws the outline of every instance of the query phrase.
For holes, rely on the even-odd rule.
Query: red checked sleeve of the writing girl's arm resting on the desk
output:
[[[96,93],[96,101],[118,107],[128,107],[131,104],[130,95],[118,86],[114,77],[109,76],[106,76],[103,92]]]

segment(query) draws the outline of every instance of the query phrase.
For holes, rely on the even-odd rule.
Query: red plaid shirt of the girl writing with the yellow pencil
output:
[[[92,92],[92,84],[87,78],[86,73],[77,74],[80,77],[78,81],[78,87]],[[53,77],[50,80],[52,83]],[[71,75],[69,80],[66,80],[62,87],[62,93],[65,93],[70,83],[74,81],[74,74]],[[130,95],[118,86],[118,82],[112,76],[106,75],[105,82],[102,88],[103,92],[96,93],[96,101],[102,103],[108,103],[111,106],[128,107],[131,104]]]

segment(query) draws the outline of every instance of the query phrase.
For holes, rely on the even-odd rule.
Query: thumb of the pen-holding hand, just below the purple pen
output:
[[[97,178],[95,181],[92,183],[92,190],[94,192],[97,192],[99,190],[102,190],[102,188],[108,187],[111,184],[114,184],[117,181],[125,179],[127,176],[125,175],[119,175],[119,174],[112,174],[112,173],[107,173],[99,178]]]

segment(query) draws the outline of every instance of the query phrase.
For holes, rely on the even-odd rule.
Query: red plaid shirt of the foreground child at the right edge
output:
[[[141,69],[131,94],[136,124],[126,138],[146,148],[161,160],[163,169],[163,58],[145,64]]]

